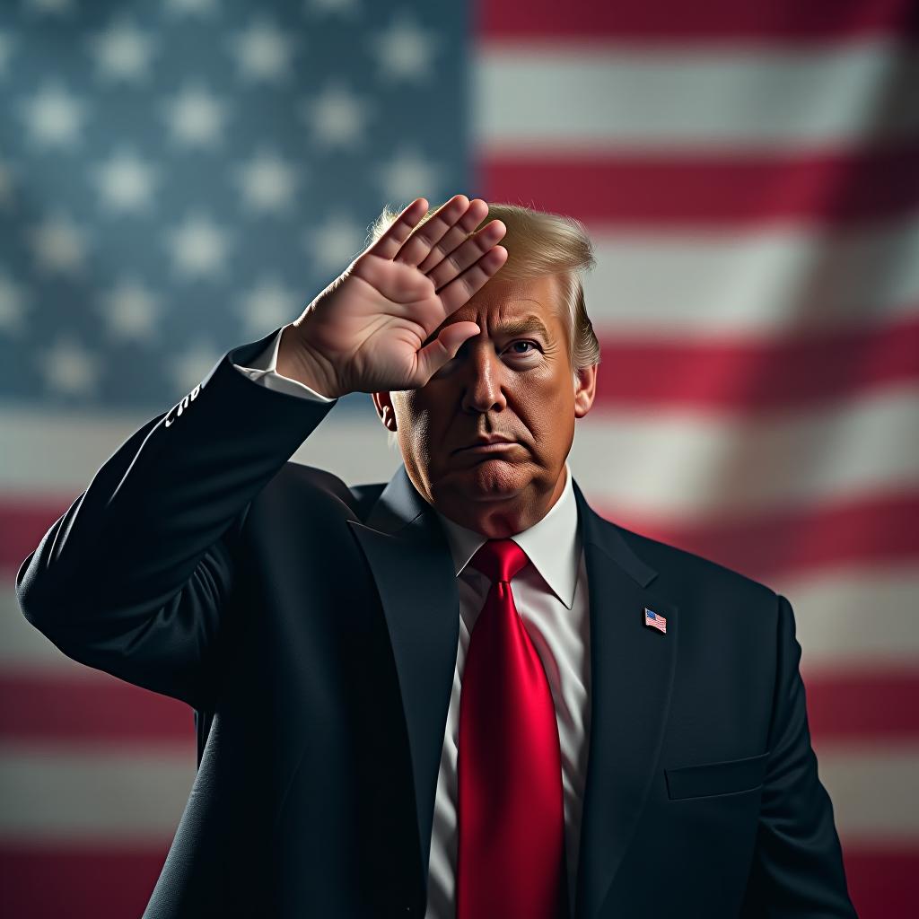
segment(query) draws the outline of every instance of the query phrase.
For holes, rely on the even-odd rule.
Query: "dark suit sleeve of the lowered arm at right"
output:
[[[845,883],[833,804],[811,747],[801,647],[777,595],[777,679],[754,862],[742,919],[857,919]]]

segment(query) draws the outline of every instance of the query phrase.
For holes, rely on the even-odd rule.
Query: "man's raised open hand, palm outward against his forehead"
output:
[[[476,323],[451,323],[424,344],[505,264],[507,250],[497,245],[505,225],[491,221],[466,239],[488,205],[456,195],[413,235],[427,208],[426,199],[414,199],[285,326],[279,373],[329,398],[417,389],[478,335]]]

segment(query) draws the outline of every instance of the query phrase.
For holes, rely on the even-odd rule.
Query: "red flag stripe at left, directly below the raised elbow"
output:
[[[167,743],[194,760],[194,716],[184,702],[102,671],[74,678],[6,668],[0,699],[4,740]]]

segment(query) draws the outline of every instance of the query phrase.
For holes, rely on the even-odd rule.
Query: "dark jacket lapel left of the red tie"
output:
[[[421,885],[427,890],[437,772],[459,642],[459,591],[437,514],[400,465],[362,524],[402,691],[414,777]]]

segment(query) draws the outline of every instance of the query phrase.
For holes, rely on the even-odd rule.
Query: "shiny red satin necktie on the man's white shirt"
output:
[[[510,585],[527,562],[513,539],[470,561],[492,586],[459,696],[457,919],[568,914],[558,724]]]

